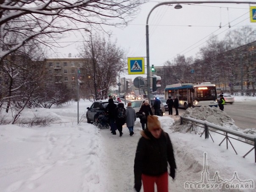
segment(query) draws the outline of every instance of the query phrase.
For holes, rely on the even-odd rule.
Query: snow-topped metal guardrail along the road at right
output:
[[[243,139],[247,139],[247,140],[249,140],[249,141],[254,142],[253,148],[250,149],[250,150],[243,156],[243,158],[245,158],[245,156],[247,156],[247,155],[254,149],[254,159],[255,159],[255,163],[256,163],[256,136],[255,136],[255,135],[244,134],[244,133],[241,133],[241,132],[239,132],[239,131],[235,131],[235,130],[232,130],[232,129],[229,129],[229,128],[224,128],[224,127],[221,127],[221,126],[219,126],[219,125],[214,125],[213,123],[210,123],[210,122],[208,122],[208,121],[196,120],[196,119],[194,119],[194,118],[192,118],[192,117],[181,117],[181,122],[180,122],[180,124],[183,125],[183,124],[184,124],[184,121],[186,121],[186,122],[188,122],[188,123],[191,123],[191,126],[190,126],[189,129],[192,129],[192,131],[195,131],[195,133],[197,133],[196,130],[195,130],[195,127],[194,127],[195,123],[196,123],[196,124],[199,124],[199,125],[197,125],[198,127],[204,128],[204,131],[203,131],[203,133],[202,133],[200,136],[202,136],[202,135],[204,134],[204,138],[205,138],[205,139],[209,139],[209,136],[211,136],[211,134],[210,134],[209,131],[212,131],[212,132],[215,132],[215,133],[217,133],[217,134],[220,134],[220,135],[225,136],[224,139],[222,140],[222,142],[220,142],[219,145],[221,145],[221,144],[226,140],[227,149],[228,149],[228,142],[229,142],[229,143],[231,144],[232,148],[234,149],[234,151],[235,151],[236,154],[237,154],[237,151],[235,150],[235,148],[234,148],[234,146],[232,145],[232,143],[231,143],[231,141],[230,141],[229,138],[235,139],[235,140],[237,140],[237,141],[239,141],[239,142],[244,142],[244,143],[246,143],[246,144],[248,144],[248,145],[253,145],[253,144],[251,144],[251,143],[249,143],[249,142],[245,142],[245,141],[239,140],[239,139],[234,138],[234,137],[231,137],[231,136],[229,136],[228,134],[233,135],[233,136],[238,136],[238,137],[241,137],[241,138],[243,138]],[[200,125],[203,125],[203,126],[200,126]],[[223,133],[220,133],[220,132],[217,132],[217,131],[210,130],[209,128],[213,128],[213,129],[215,129],[215,130],[217,130],[217,131],[223,131],[224,134],[223,134]],[[188,130],[189,130],[189,129],[188,129]],[[212,137],[211,137],[211,140],[214,142],[214,140],[213,140]]]

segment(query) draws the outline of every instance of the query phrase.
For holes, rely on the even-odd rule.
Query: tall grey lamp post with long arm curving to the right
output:
[[[200,3],[236,3],[236,4],[254,4],[255,2],[253,1],[168,1],[168,2],[162,2],[154,6],[149,14],[147,15],[147,22],[146,22],[146,46],[147,46],[147,97],[150,99],[150,64],[149,64],[149,36],[148,36],[148,19],[152,11],[163,5],[170,5],[170,4],[177,4],[177,3],[195,3],[195,4],[200,4]],[[181,5],[176,5],[176,9],[180,9]]]

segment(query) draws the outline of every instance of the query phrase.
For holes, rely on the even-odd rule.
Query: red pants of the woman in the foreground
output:
[[[144,192],[154,192],[155,183],[158,192],[168,192],[168,173],[165,172],[159,176],[149,176],[142,174],[142,183]]]

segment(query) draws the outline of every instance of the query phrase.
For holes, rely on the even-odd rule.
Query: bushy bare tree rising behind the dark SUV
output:
[[[117,47],[116,43],[95,38],[92,42],[84,44],[80,54],[87,60],[91,58],[91,62],[86,62],[84,69],[89,73],[92,81],[96,83],[97,95],[103,99],[107,96],[109,87],[116,86],[118,73],[125,66],[123,50]],[[93,64],[95,64],[95,68]],[[92,82],[88,81],[87,83],[88,87],[94,90],[92,89]],[[94,94],[94,91],[92,91],[92,94]]]

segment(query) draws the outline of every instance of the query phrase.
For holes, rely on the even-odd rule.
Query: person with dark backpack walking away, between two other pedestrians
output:
[[[119,102],[117,105],[116,111],[116,126],[119,131],[119,136],[122,136],[122,125],[125,124],[125,106],[122,102]]]

